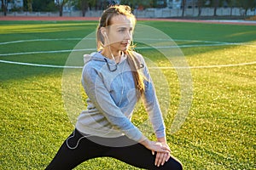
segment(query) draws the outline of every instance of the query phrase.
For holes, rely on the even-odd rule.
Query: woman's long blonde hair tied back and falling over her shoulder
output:
[[[136,18],[134,14],[131,13],[131,8],[127,5],[114,5],[106,10],[104,10],[101,19],[99,20],[99,25],[96,31],[96,41],[97,41],[97,50],[102,50],[104,44],[104,37],[102,35],[101,28],[111,26],[111,19],[113,16],[123,14],[127,18],[131,19],[133,26],[136,24]],[[144,76],[141,71],[141,64],[135,54],[133,53],[133,46],[131,45],[126,51],[128,64],[131,66],[132,75],[135,82],[135,87],[140,92],[139,94],[143,94],[145,91],[144,85]]]

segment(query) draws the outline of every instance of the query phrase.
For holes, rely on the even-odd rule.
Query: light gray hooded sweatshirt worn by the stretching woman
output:
[[[141,69],[148,79],[145,81],[143,104],[156,137],[164,137],[165,125],[147,65],[141,54],[134,53],[144,65]],[[137,90],[126,56],[115,65],[113,59],[104,57],[100,52],[85,54],[84,64],[82,85],[88,96],[87,110],[81,112],[76,128],[81,133],[105,138],[126,135],[137,142],[145,138],[131,122],[137,104]]]

